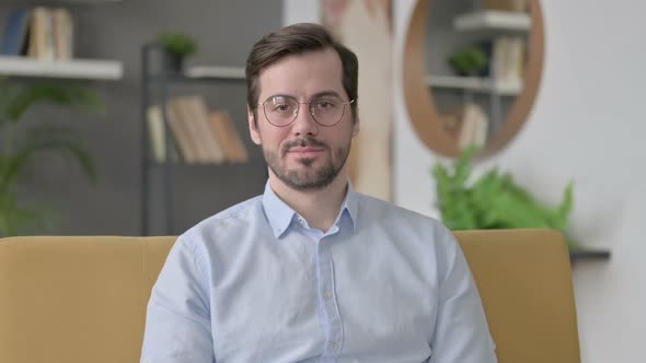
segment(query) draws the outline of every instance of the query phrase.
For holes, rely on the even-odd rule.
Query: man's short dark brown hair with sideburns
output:
[[[357,56],[347,47],[336,40],[332,33],[324,26],[313,23],[299,23],[285,26],[277,32],[265,35],[254,44],[249,58],[246,58],[246,103],[253,110],[257,121],[257,104],[259,97],[259,73],[265,67],[290,55],[300,55],[307,51],[334,49],[341,58],[343,66],[343,87],[349,99],[355,99],[350,105],[353,120],[357,116],[358,103],[358,77],[359,61]]]

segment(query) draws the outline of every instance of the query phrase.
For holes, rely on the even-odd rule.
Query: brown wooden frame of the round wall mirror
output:
[[[461,151],[458,143],[449,137],[439,124],[432,92],[426,83],[425,35],[428,7],[432,1],[417,0],[408,23],[403,62],[404,98],[408,118],[422,142],[442,156],[458,157]],[[489,156],[503,150],[522,128],[535,102],[544,58],[543,15],[539,0],[529,0],[529,13],[531,31],[522,91],[516,96],[514,105],[507,114],[507,119],[487,141],[478,156]]]

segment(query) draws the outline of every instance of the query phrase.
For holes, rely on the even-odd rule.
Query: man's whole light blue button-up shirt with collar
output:
[[[142,362],[496,362],[450,231],[353,191],[322,232],[279,199],[184,233],[148,304]]]

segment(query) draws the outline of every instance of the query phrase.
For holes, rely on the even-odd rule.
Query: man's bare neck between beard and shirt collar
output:
[[[311,227],[326,232],[336,221],[346,196],[347,177],[342,174],[319,190],[295,190],[275,175],[269,176],[269,186],[278,198],[304,218]]]

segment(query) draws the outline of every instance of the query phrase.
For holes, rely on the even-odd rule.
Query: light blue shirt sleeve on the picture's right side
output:
[[[495,363],[495,344],[466,259],[453,234],[439,233],[439,305],[430,363]]]

